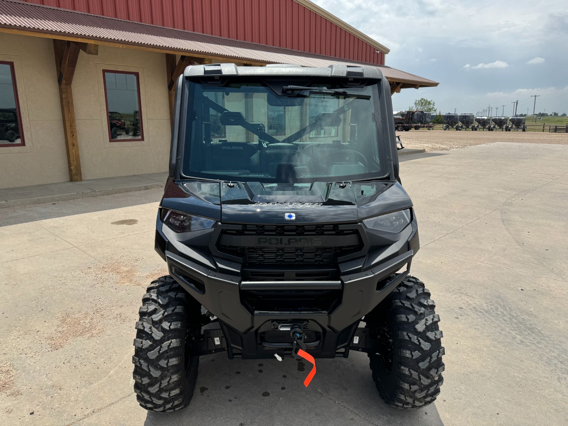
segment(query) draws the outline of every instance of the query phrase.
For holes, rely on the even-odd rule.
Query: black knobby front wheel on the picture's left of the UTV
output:
[[[181,410],[197,379],[199,357],[186,353],[201,336],[201,305],[169,275],[152,281],[142,301],[132,357],[136,399],[149,411]]]

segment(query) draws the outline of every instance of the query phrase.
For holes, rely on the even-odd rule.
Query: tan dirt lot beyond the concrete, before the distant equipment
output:
[[[410,130],[396,132],[406,148],[429,151],[447,151],[452,148],[466,148],[492,142],[532,143],[532,144],[568,144],[568,133],[548,132],[502,132],[469,130]]]

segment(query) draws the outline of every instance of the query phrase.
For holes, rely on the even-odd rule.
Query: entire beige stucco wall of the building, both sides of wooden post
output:
[[[0,187],[68,181],[52,40],[0,33],[0,60],[14,62],[26,139],[25,147],[0,147]],[[139,73],[143,140],[108,140],[103,69]],[[96,56],[80,52],[72,88],[83,179],[168,169],[163,54],[106,46]]]

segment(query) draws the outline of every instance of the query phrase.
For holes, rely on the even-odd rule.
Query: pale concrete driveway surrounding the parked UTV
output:
[[[0,210],[0,423],[38,425],[568,424],[568,145],[494,143],[407,156],[412,273],[441,315],[434,404],[382,403],[367,358],[201,358],[186,410],[147,413],[132,340],[160,190]],[[264,396],[268,395],[268,396]],[[33,411],[32,411],[33,410]],[[30,414],[33,412],[34,414]]]

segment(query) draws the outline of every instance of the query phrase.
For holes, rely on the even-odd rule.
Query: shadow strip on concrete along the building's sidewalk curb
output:
[[[138,206],[140,204],[158,203],[162,198],[162,194],[164,194],[164,188],[158,187],[156,189],[101,195],[99,197],[34,204],[32,206],[0,208],[0,227],[34,222],[35,220],[62,218],[95,211]]]

